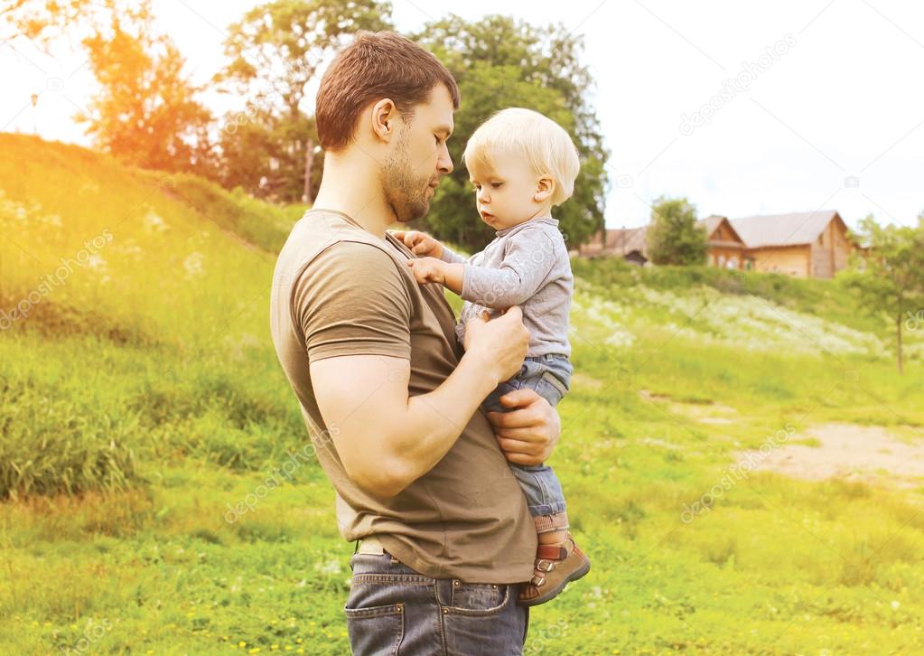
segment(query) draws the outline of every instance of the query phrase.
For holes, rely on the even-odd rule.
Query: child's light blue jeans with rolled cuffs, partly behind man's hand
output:
[[[571,383],[574,367],[563,355],[550,354],[526,358],[517,375],[501,383],[481,404],[486,410],[505,412],[498,400],[501,396],[529,387],[549,405],[555,407],[565,396]],[[565,492],[555,472],[548,465],[516,465],[510,469],[519,480],[532,516],[547,516],[565,512]]]

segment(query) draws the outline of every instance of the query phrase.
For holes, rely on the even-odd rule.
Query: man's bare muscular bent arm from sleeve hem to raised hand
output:
[[[318,407],[346,474],[380,498],[404,490],[445,456],[484,397],[517,372],[528,346],[519,308],[491,322],[473,319],[456,371],[431,393],[413,397],[407,394],[405,358],[353,355],[312,362]]]

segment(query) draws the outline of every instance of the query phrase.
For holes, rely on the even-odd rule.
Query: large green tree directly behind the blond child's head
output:
[[[555,211],[569,246],[577,247],[603,225],[609,156],[589,101],[593,86],[580,61],[583,43],[564,25],[532,26],[505,16],[468,22],[458,16],[436,20],[412,38],[449,68],[462,97],[449,152],[456,164],[444,178],[421,227],[468,249],[493,237],[475,211],[474,193],[462,162],[475,128],[505,107],[528,107],[568,130],[581,159],[574,196]]]

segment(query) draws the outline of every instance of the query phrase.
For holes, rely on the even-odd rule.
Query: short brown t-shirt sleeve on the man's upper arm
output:
[[[410,358],[411,301],[397,264],[382,249],[337,242],[293,287],[308,360],[353,355]]]

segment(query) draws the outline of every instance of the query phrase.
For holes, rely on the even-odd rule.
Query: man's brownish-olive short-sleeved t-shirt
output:
[[[313,210],[292,229],[276,262],[273,341],[336,491],[340,533],[348,541],[375,535],[389,553],[430,577],[529,580],[536,531],[481,410],[439,463],[382,501],[346,475],[318,409],[309,370],[315,360],[407,358],[410,396],[432,392],[456,369],[462,351],[453,310],[442,286],[417,284],[406,264],[412,257],[391,235],[380,239],[346,214]]]

